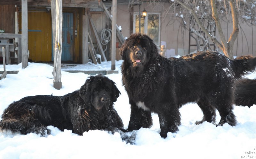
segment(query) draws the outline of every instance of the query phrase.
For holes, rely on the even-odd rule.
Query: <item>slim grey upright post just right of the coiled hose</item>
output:
[[[111,70],[116,69],[116,1],[112,1]]]

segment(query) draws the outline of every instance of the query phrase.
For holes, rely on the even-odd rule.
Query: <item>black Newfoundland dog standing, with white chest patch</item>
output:
[[[218,52],[198,52],[180,59],[166,59],[146,35],[133,34],[120,48],[122,81],[131,104],[128,130],[149,128],[151,112],[159,116],[161,137],[175,132],[180,125],[179,108],[196,102],[202,109],[202,121],[218,125],[236,125],[232,112],[235,79],[255,68],[256,58],[244,56],[229,60]]]

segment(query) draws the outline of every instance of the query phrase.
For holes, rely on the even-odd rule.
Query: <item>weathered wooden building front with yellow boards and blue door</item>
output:
[[[0,30],[4,30],[4,33],[22,34],[22,1],[24,0],[0,1]],[[28,4],[28,60],[51,62],[53,61],[53,48],[55,45],[52,40],[51,0],[26,1]],[[105,46],[100,48],[99,41],[97,41],[103,29],[111,28],[111,18],[106,14],[108,11],[104,10],[101,0],[62,0],[62,12],[61,61],[85,63],[82,59],[85,45],[84,33],[86,31],[90,36],[88,42],[90,43],[90,39],[92,42],[91,45],[88,44],[89,59],[92,59],[93,62],[94,57],[92,58],[92,56],[100,54],[102,61],[110,60],[110,44],[108,44],[107,51],[102,52],[102,47],[105,50]],[[89,20],[84,22],[86,12]]]

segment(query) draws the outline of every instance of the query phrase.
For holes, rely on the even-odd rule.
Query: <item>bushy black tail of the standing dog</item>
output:
[[[241,76],[248,72],[255,71],[256,58],[252,55],[240,56],[233,60],[234,76],[241,78]]]

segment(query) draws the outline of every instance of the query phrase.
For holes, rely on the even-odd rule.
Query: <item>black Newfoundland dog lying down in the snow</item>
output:
[[[48,125],[82,135],[89,130],[124,131],[113,107],[120,95],[115,83],[105,76],[89,77],[80,90],[64,96],[37,95],[13,102],[4,110],[0,130],[42,136]]]

